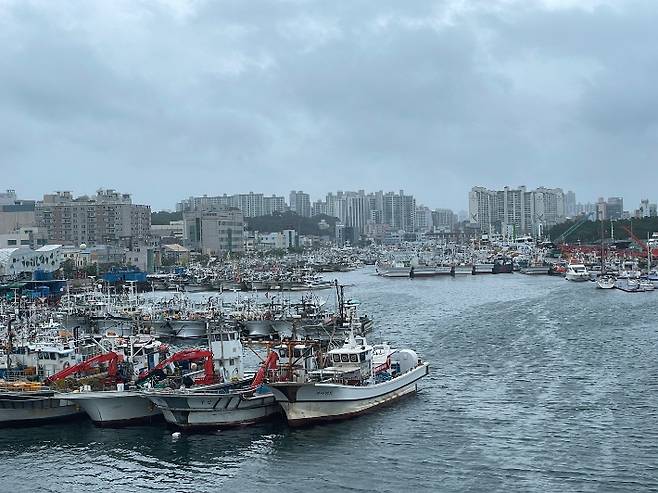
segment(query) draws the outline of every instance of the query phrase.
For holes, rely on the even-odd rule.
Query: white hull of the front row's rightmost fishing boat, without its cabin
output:
[[[275,383],[272,392],[291,426],[349,419],[391,404],[416,391],[425,363],[388,382],[370,386],[331,383]]]

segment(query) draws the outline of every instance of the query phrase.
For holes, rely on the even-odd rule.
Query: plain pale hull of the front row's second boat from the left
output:
[[[162,411],[138,392],[81,392],[71,394],[68,399],[77,403],[98,426],[137,424],[162,417]]]

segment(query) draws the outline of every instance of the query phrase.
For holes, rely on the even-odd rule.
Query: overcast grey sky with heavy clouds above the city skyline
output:
[[[0,188],[658,198],[658,2],[0,0]]]

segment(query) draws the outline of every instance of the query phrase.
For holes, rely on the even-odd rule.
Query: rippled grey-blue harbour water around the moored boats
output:
[[[371,339],[430,361],[418,395],[294,430],[0,429],[0,489],[658,490],[658,293],[520,274],[339,280],[376,319]]]

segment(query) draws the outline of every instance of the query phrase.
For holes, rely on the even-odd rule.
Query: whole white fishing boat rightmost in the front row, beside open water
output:
[[[353,332],[328,352],[331,366],[269,385],[291,426],[351,418],[416,391],[429,365],[414,351],[370,346]]]

